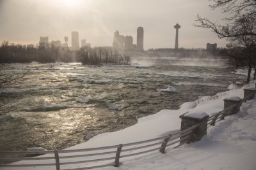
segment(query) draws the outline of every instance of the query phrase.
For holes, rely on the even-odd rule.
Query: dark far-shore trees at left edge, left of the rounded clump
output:
[[[68,48],[41,44],[36,48],[34,45],[9,45],[4,41],[0,47],[0,63],[11,62],[71,62],[73,53]]]

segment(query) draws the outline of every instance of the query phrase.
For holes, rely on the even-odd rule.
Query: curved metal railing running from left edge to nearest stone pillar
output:
[[[189,142],[192,132],[198,127],[198,124],[184,129],[183,131],[161,136],[159,138],[137,141],[134,143],[125,143],[120,145],[105,146],[98,148],[84,148],[79,150],[49,150],[49,151],[34,151],[34,152],[0,152],[0,167],[41,167],[52,166],[56,170],[79,170],[92,169],[96,167],[116,166],[120,165],[120,159],[125,157],[134,157],[148,152],[164,153],[167,146],[179,147],[184,143]],[[175,145],[179,143],[179,145]],[[96,152],[96,153],[95,153]],[[122,155],[121,155],[122,153]],[[47,154],[47,155],[45,155]],[[19,157],[12,157],[19,156]],[[40,157],[24,157],[24,155],[41,155]],[[23,156],[23,157],[20,157]],[[92,159],[97,156],[98,158]],[[107,157],[106,157],[107,156]],[[90,159],[86,159],[90,157]],[[100,157],[100,158],[99,158]],[[72,160],[70,160],[72,159]],[[74,161],[76,159],[76,161]],[[31,162],[16,162],[20,160],[43,160],[45,162],[32,164]],[[107,160],[105,164],[100,164]],[[15,162],[13,164],[3,164],[4,162]],[[97,165],[91,166],[89,163],[97,162]],[[70,166],[72,164],[83,164],[83,167]],[[61,167],[65,166],[65,167]],[[67,167],[69,166],[69,167]]]

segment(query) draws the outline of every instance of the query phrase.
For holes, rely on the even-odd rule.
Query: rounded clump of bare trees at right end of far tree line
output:
[[[76,53],[77,61],[82,64],[100,65],[100,64],[129,64],[130,57],[118,55],[111,48],[84,46]]]

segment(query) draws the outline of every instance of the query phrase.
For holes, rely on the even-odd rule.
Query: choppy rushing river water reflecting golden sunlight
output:
[[[29,72],[22,84],[3,91],[21,104],[0,117],[0,150],[67,148],[99,133],[124,129],[159,110],[179,109],[200,96],[213,96],[244,80],[228,67],[13,66]],[[159,90],[168,86],[177,92]]]

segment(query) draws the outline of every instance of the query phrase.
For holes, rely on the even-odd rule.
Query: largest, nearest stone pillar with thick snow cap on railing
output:
[[[207,115],[204,111],[191,111],[184,115],[180,115],[180,118],[180,131],[188,129],[193,125],[199,124],[191,134],[191,142],[199,141],[204,135],[207,134],[207,121],[209,119],[209,115]]]

